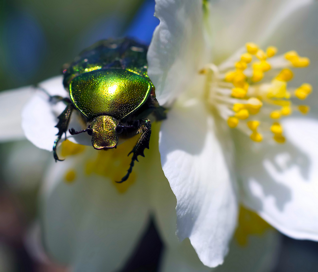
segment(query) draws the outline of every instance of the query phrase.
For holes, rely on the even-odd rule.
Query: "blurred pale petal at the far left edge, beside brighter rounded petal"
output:
[[[31,86],[0,93],[0,141],[24,138],[21,128],[21,110],[32,93],[34,93],[34,88]]]

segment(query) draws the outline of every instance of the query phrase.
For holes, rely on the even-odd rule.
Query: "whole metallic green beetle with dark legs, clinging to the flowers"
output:
[[[147,49],[146,45],[128,38],[102,40],[64,66],[63,85],[70,98],[51,97],[67,104],[56,125],[59,129],[53,145],[56,161],[60,161],[57,143],[66,134],[72,111],[77,110],[86,120],[87,128],[80,131],[72,128],[69,132],[72,135],[87,132],[95,149],[116,148],[119,138],[141,134],[130,152],[133,156],[128,172],[117,182],[128,179],[137,157],[144,157],[145,148],[149,149],[151,123],[147,117],[153,114],[156,120],[165,118],[165,109],[159,106],[155,87],[147,75]]]

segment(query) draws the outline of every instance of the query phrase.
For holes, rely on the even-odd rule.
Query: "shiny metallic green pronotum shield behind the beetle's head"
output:
[[[74,78],[70,95],[86,118],[107,114],[123,119],[147,100],[152,87],[149,80],[136,73],[101,69]]]

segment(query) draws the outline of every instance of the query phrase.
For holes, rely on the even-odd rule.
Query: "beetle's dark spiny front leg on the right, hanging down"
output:
[[[124,181],[126,181],[131,173],[131,171],[133,170],[133,167],[135,165],[135,161],[138,162],[138,156],[142,156],[145,157],[143,151],[145,150],[145,148],[149,149],[149,140],[150,140],[150,135],[151,135],[151,123],[149,119],[142,119],[140,120],[140,125],[139,128],[137,130],[137,133],[141,133],[141,136],[138,140],[138,142],[136,143],[135,147],[133,148],[133,150],[131,150],[128,154],[128,156],[130,155],[130,153],[133,153],[133,157],[131,158],[131,163],[130,163],[130,167],[127,171],[127,174],[121,179],[121,181],[116,181],[117,183],[122,183]]]

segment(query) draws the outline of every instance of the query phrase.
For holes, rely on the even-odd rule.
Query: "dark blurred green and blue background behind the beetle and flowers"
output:
[[[1,0],[0,91],[59,75],[64,63],[103,38],[149,44],[159,24],[154,6],[154,0]],[[0,272],[71,271],[49,260],[38,241],[37,194],[49,156],[25,140],[0,144]],[[279,235],[273,272],[318,271],[318,243]],[[150,220],[121,271],[158,271],[163,251]]]

